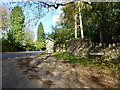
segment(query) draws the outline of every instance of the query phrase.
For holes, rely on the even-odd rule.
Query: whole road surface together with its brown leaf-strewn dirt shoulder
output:
[[[119,79],[112,73],[36,53],[42,52],[3,54],[2,88],[119,87]]]

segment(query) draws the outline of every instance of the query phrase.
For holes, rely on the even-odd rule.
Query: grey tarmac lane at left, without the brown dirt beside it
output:
[[[21,57],[29,57],[42,52],[9,52],[0,54],[2,59],[0,60],[0,77],[2,88],[35,88],[37,85],[36,81],[30,81],[23,75],[22,69],[16,67],[16,62]]]

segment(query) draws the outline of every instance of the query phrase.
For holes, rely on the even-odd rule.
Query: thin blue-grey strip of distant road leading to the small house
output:
[[[21,56],[32,55],[32,54],[43,53],[43,52],[45,52],[45,51],[40,51],[40,52],[8,52],[8,53],[2,54],[2,59],[21,57]]]

